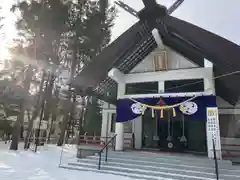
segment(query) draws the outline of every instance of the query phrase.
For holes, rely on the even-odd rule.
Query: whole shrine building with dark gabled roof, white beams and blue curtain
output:
[[[134,137],[135,149],[209,158],[215,142],[222,158],[221,136],[238,133],[226,115],[240,114],[240,47],[154,1],[138,17],[74,81],[103,101],[101,136],[117,134],[118,151]]]

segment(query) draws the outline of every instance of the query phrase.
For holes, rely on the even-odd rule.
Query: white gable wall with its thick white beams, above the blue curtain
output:
[[[129,74],[123,74],[117,69],[111,71],[109,76],[118,82],[118,98],[126,98],[125,84],[137,82],[152,82],[158,81],[160,96],[164,96],[164,81],[166,80],[180,80],[180,79],[204,79],[205,90],[206,87],[212,88],[211,91],[205,92],[215,94],[215,86],[213,81],[212,66],[206,68],[199,68],[196,64],[176,53],[169,47],[164,47],[167,54],[168,71],[154,71],[153,56],[163,51],[163,48],[156,48],[150,53],[142,62],[140,62]],[[206,60],[207,61],[207,60]],[[188,95],[193,95],[190,93]],[[169,96],[170,94],[165,94]],[[178,94],[181,96],[181,94]],[[183,93],[182,95],[186,95]],[[208,94],[207,94],[208,95]],[[137,95],[139,97],[141,95]],[[142,95],[143,96],[143,95]],[[146,95],[144,95],[146,97]],[[152,95],[147,95],[152,96]],[[156,96],[156,94],[154,95]]]

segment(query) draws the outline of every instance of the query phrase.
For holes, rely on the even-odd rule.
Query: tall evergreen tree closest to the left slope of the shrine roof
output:
[[[73,57],[70,81],[72,81],[77,71],[80,71],[82,67],[88,64],[110,42],[111,27],[116,15],[115,8],[109,7],[107,0],[78,1],[72,4],[71,9],[69,18],[69,30],[71,33],[68,40],[71,44],[69,47]],[[69,89],[71,89],[71,82]],[[68,99],[70,101],[71,97],[68,96]],[[68,110],[66,112],[58,145],[63,144],[67,121],[70,119],[69,112],[74,111]],[[70,115],[70,117],[73,117],[73,115]],[[81,117],[83,118],[83,116]]]

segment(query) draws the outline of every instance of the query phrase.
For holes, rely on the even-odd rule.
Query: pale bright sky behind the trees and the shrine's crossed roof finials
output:
[[[9,12],[11,4],[16,0],[0,0],[0,6],[4,8],[2,15],[6,16],[4,21],[4,35],[0,35],[0,52],[6,54],[4,46],[16,35],[14,28],[14,16]],[[141,0],[122,0],[135,10],[143,8]],[[159,4],[169,7],[175,0],[157,0]],[[114,0],[110,0],[111,3]],[[174,11],[172,16],[202,27],[216,33],[238,45],[240,45],[240,1],[239,0],[184,0],[180,7]],[[115,25],[112,29],[112,40],[119,37],[124,31],[131,27],[138,19],[128,12],[118,8]],[[1,58],[1,57],[0,57]]]

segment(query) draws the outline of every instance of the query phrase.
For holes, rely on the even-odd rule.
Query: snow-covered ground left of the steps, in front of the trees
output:
[[[0,180],[131,180],[110,174],[81,172],[59,168],[61,148],[48,145],[37,153],[9,151],[8,145],[0,142]],[[63,161],[74,158],[75,147],[66,146]],[[64,163],[64,162],[63,162]]]

